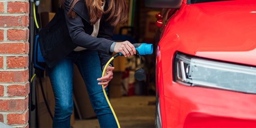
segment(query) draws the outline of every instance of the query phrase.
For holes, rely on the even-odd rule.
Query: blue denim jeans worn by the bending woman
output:
[[[74,63],[83,77],[100,127],[117,128],[102,85],[98,85],[97,78],[102,75],[98,52],[90,50],[73,51],[52,68],[47,67],[55,97],[53,128],[70,128],[70,115],[73,109]]]

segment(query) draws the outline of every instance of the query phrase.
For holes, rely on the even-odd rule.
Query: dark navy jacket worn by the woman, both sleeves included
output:
[[[72,10],[77,14],[74,19],[67,16],[70,1],[66,0],[64,9],[58,9],[53,19],[39,32],[39,45],[47,66],[53,67],[77,46],[98,51],[100,64],[103,66],[112,57],[109,49],[114,42],[111,41],[114,26],[105,20],[108,14],[102,15],[100,19],[97,38],[90,36],[94,27],[91,26],[84,0],[77,2],[73,7]],[[107,8],[108,0],[106,0],[104,10]]]

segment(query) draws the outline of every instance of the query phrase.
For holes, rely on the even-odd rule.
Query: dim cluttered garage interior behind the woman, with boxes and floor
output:
[[[115,110],[119,124],[123,128],[153,128],[155,126],[155,51],[156,41],[154,39],[158,28],[155,26],[156,14],[161,9],[152,9],[144,6],[144,0],[126,0],[128,5],[128,19],[125,24],[115,26],[115,41],[128,40],[131,43],[153,44],[152,55],[141,56],[141,66],[147,72],[147,79],[137,81],[134,73],[141,68],[139,56],[129,58],[117,57],[114,60],[115,70],[113,79],[109,83],[108,92],[110,102]],[[36,16],[40,28],[44,28],[53,18],[58,9],[58,0],[41,0],[36,6]],[[30,12],[33,12],[33,5],[30,4]],[[35,22],[30,13],[30,52],[33,50],[34,35],[38,33],[35,29]],[[33,67],[32,67],[33,68]],[[34,74],[34,68],[30,70]],[[42,74],[43,90],[49,105],[54,113],[54,96],[47,71]],[[99,128],[98,119],[92,109],[83,79],[74,65],[74,109],[71,115],[72,128]],[[47,110],[43,98],[39,78],[35,78],[31,84],[32,102],[30,127],[50,128],[52,125],[51,116]]]

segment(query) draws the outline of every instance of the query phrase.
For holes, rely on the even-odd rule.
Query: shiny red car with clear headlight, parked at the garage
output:
[[[175,10],[157,48],[156,128],[256,127],[256,0],[145,6]]]

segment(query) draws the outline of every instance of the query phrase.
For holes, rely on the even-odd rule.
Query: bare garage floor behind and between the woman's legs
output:
[[[111,98],[121,128],[154,128],[155,96]],[[98,119],[76,119],[73,128],[100,128]]]

